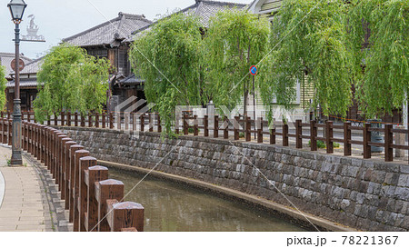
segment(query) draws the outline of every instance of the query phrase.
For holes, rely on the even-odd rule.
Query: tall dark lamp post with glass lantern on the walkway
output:
[[[13,22],[15,23],[15,102],[13,109],[13,143],[12,165],[22,165],[21,156],[21,100],[20,100],[20,23],[25,14],[24,0],[11,0],[7,7],[10,9]]]

